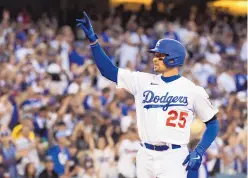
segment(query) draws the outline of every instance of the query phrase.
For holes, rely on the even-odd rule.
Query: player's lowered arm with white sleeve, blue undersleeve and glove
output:
[[[206,91],[201,87],[197,87],[195,93],[194,110],[200,119],[206,124],[206,130],[199,144],[184,160],[183,165],[188,163],[186,170],[199,169],[203,154],[215,140],[220,129],[216,116],[218,109],[210,103]]]

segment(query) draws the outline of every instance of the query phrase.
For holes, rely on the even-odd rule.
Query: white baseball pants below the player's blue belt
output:
[[[154,151],[140,147],[137,157],[138,178],[186,178],[186,166],[182,163],[189,154],[187,146],[166,151]]]

